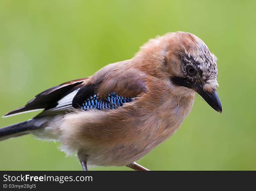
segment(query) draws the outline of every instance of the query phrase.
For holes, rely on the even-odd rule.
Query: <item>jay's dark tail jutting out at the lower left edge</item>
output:
[[[16,124],[0,128],[0,141],[12,137],[26,135],[29,134],[30,130],[40,128],[40,126],[35,125],[35,120],[36,119],[29,119],[24,122],[19,122]]]

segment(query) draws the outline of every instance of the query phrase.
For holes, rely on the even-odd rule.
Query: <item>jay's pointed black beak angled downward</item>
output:
[[[208,93],[204,91],[203,87],[201,85],[198,85],[198,88],[196,90],[200,96],[216,111],[222,112],[222,107],[221,107],[221,101],[218,97],[218,94],[216,90],[214,90],[212,93]]]

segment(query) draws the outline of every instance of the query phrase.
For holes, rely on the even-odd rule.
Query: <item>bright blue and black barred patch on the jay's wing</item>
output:
[[[83,110],[92,108],[99,110],[115,109],[123,106],[124,103],[129,103],[131,101],[133,101],[133,98],[122,97],[115,94],[115,92],[110,93],[106,99],[99,99],[98,95],[94,94],[93,96],[90,96],[90,98],[87,98],[80,108]]]

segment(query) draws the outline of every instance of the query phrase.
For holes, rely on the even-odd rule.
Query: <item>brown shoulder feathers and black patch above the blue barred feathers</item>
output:
[[[98,94],[100,99],[105,99],[112,92],[122,97],[134,98],[147,91],[145,74],[120,63],[103,67],[86,82],[74,96],[73,108],[80,108],[86,98],[94,94]]]

